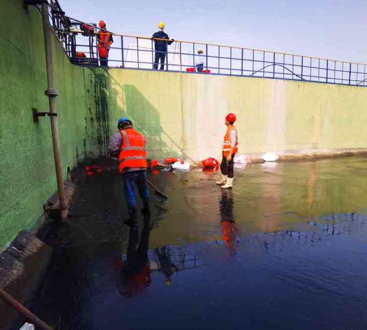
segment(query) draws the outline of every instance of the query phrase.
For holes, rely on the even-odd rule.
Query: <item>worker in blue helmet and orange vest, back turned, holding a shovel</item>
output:
[[[134,192],[134,183],[138,186],[140,198],[143,201],[143,214],[149,214],[149,191],[146,182],[146,150],[145,137],[133,129],[129,118],[123,117],[117,123],[118,133],[110,141],[111,156],[118,156],[118,171],[124,180],[124,194],[128,207],[129,219],[127,225],[137,224],[137,201]]]

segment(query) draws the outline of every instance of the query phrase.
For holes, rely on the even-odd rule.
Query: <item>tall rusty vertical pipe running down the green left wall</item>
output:
[[[55,159],[57,191],[59,194],[60,218],[65,220],[68,217],[68,210],[65,203],[65,191],[63,186],[63,165],[60,155],[59,133],[57,129],[57,116],[55,113],[55,98],[59,92],[54,88],[53,81],[53,57],[52,57],[52,42],[51,42],[51,27],[48,21],[48,1],[42,2],[42,21],[45,35],[45,50],[46,50],[46,69],[47,69],[47,89],[45,94],[48,96],[50,108],[50,121],[52,132],[53,155]]]

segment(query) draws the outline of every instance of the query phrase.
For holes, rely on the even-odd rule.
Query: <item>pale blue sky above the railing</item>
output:
[[[150,37],[367,63],[366,0],[59,0],[67,16]]]

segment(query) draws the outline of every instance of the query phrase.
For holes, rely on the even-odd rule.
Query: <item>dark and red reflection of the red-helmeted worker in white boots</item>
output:
[[[235,254],[237,248],[238,227],[233,217],[233,195],[230,190],[222,190],[219,200],[219,212],[221,216],[221,232],[225,245],[231,254]]]

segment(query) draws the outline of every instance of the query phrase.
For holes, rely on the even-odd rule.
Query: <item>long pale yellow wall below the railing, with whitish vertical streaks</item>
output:
[[[228,110],[240,153],[367,146],[367,88],[110,69],[113,109],[148,135],[149,155],[218,157]],[[117,116],[114,117],[114,120]]]

